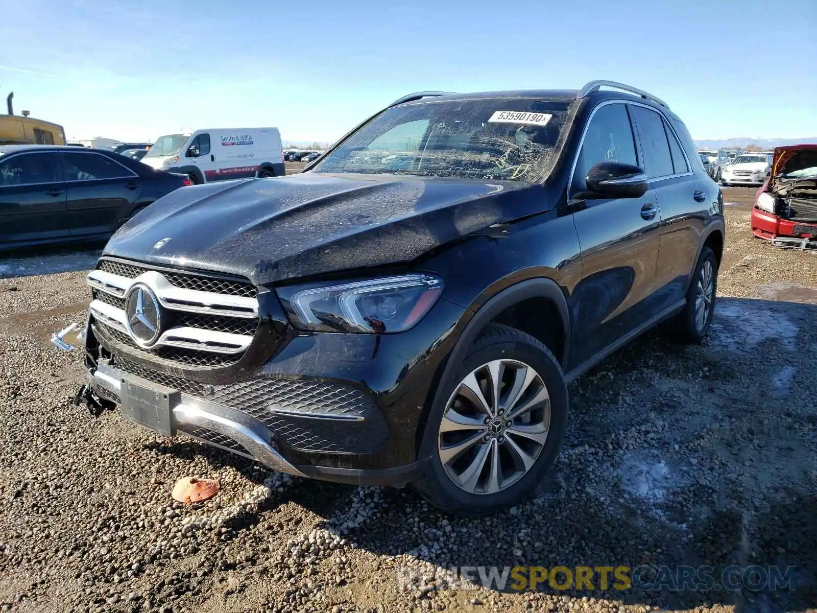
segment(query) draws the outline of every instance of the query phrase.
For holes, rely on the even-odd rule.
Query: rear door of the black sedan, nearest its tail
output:
[[[142,178],[114,157],[62,151],[72,236],[112,234],[142,193]]]

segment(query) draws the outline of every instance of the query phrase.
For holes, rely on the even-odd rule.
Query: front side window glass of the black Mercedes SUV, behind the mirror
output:
[[[638,163],[626,105],[604,105],[593,114],[578,153],[574,191],[586,189],[587,172],[599,162]]]

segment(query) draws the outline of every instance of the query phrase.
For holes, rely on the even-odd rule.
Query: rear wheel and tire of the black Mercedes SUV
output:
[[[708,273],[706,272],[708,269]],[[708,284],[711,281],[711,285]],[[708,295],[707,300],[705,296]],[[712,315],[715,313],[717,296],[717,257],[711,248],[704,247],[695,265],[695,271],[686,290],[686,305],[684,310],[669,320],[667,328],[677,341],[686,344],[699,344],[709,332],[712,325]],[[705,308],[703,317],[699,314],[699,298],[701,308]]]

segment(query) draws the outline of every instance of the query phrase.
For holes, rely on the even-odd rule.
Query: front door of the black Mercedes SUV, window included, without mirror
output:
[[[587,190],[587,172],[604,161],[643,168],[623,103],[603,103],[592,115],[569,194]],[[582,249],[582,280],[574,294],[569,369],[596,356],[657,312],[652,293],[661,228],[654,190],[647,190],[641,198],[572,199],[571,204]]]

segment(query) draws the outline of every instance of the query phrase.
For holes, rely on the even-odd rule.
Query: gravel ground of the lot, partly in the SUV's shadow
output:
[[[805,611],[817,602],[817,257],[752,239],[725,189],[717,320],[701,347],[648,333],[570,387],[560,458],[534,499],[446,517],[411,490],[270,473],[161,439],[70,396],[81,320],[65,257],[0,260],[2,611]],[[92,253],[74,254],[72,268]],[[88,259],[83,259],[83,258]],[[87,267],[87,264],[85,265]],[[11,273],[15,274],[15,273]],[[216,478],[215,499],[170,497]],[[770,592],[467,588],[449,566],[794,566]],[[425,573],[434,584],[404,579]],[[720,576],[720,575],[717,575]]]

